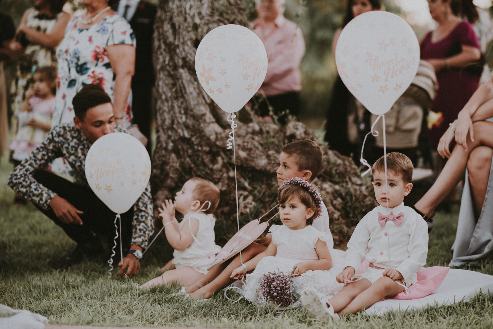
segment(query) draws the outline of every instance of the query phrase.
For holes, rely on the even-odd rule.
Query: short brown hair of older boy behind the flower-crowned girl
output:
[[[313,140],[297,140],[292,143],[282,145],[281,151],[289,156],[296,156],[296,165],[298,171],[310,170],[312,176],[309,181],[312,181],[322,167],[322,149]]]

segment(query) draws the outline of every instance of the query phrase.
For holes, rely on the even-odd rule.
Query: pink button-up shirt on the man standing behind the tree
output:
[[[267,51],[267,74],[259,91],[267,96],[300,91],[300,62],[305,54],[300,28],[282,15],[276,18],[274,27],[259,19],[251,25]]]

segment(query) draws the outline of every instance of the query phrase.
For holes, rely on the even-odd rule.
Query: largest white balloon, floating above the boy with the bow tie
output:
[[[420,64],[420,45],[406,21],[374,10],[346,25],[335,57],[339,76],[352,95],[380,115],[411,84]]]

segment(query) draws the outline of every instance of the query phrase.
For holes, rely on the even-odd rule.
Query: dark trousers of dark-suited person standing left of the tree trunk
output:
[[[151,151],[152,86],[132,84],[132,124],[137,124],[141,133],[147,137],[147,152]]]

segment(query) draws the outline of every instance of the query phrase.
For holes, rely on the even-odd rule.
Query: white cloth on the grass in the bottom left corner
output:
[[[1,329],[43,329],[48,319],[28,310],[14,310],[0,304]]]

